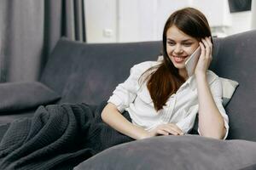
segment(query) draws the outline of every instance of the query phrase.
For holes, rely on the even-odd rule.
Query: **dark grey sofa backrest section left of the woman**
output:
[[[86,44],[61,38],[40,81],[61,94],[60,103],[96,105],[125,81],[132,65],[159,54],[160,42]]]

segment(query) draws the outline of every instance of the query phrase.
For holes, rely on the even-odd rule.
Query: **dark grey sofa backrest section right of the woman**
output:
[[[256,141],[256,31],[218,39],[212,71],[219,77],[239,82],[239,88],[225,108],[230,117],[229,139]]]

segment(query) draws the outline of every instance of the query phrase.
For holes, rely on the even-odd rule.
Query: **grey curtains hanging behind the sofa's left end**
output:
[[[60,37],[85,42],[84,0],[1,0],[0,82],[34,81]]]

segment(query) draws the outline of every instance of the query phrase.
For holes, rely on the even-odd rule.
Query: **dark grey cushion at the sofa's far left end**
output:
[[[60,98],[41,82],[0,83],[0,114],[47,105]]]

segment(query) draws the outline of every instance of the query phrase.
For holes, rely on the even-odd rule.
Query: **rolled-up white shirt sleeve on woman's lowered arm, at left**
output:
[[[115,88],[113,95],[108,99],[108,103],[116,105],[120,112],[125,111],[137,96],[138,79],[141,76],[138,69],[138,66],[134,65],[130,70],[130,76]]]

